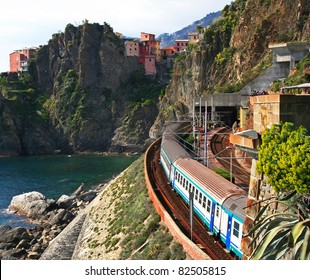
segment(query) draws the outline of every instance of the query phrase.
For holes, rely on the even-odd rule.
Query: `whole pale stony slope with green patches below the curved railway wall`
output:
[[[145,187],[140,157],[92,202],[73,259],[185,259]]]

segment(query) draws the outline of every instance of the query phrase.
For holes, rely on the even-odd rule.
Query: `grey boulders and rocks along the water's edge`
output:
[[[62,195],[57,201],[39,192],[13,197],[9,210],[29,219],[34,227],[12,228],[0,226],[0,259],[39,259],[50,242],[84,209],[105,187],[100,184],[86,191],[82,184],[72,195]]]

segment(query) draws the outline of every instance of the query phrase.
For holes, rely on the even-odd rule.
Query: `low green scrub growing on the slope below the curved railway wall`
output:
[[[145,186],[143,160],[142,156],[134,162],[113,182],[108,194],[105,192],[101,197],[104,200],[106,195],[111,196],[108,207],[114,212],[105,220],[108,226],[104,240],[90,238],[88,247],[98,247],[105,253],[121,249],[119,259],[185,259],[182,246],[173,240],[165,226],[160,225],[160,216]],[[96,210],[92,212],[96,213]],[[98,225],[93,231],[96,234],[102,230],[99,226],[102,219],[95,216]],[[91,250],[90,255],[93,255]]]

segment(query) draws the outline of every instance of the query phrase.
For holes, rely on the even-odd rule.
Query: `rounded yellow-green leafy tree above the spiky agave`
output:
[[[276,192],[309,193],[310,138],[292,123],[274,124],[262,135],[257,171],[267,176]]]

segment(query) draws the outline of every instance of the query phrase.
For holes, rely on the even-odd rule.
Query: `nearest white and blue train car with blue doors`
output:
[[[228,251],[242,257],[242,226],[246,193],[196,160],[178,159],[174,163],[172,187],[189,204],[194,194],[194,211],[210,232],[218,235]]]

